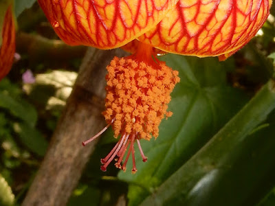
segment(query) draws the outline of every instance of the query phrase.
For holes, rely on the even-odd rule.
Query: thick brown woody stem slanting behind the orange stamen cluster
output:
[[[23,206],[66,205],[97,142],[83,148],[81,141],[98,133],[105,124],[101,115],[105,67],[114,55],[124,56],[125,52],[120,49],[88,49],[72,94]]]

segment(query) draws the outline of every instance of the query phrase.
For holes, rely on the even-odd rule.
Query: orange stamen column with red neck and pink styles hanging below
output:
[[[165,62],[159,61],[153,47],[144,43],[140,43],[135,54],[129,57],[113,58],[107,71],[107,95],[105,111],[102,113],[107,126],[91,139],[83,141],[83,146],[111,126],[114,137],[119,140],[107,157],[101,159],[100,169],[106,171],[115,159],[115,167],[125,171],[131,156],[132,172],[135,173],[134,144],[137,144],[146,162],[140,139],[150,140],[152,136],[157,138],[160,122],[173,114],[167,109],[170,93],[179,82],[178,71],[173,71]]]

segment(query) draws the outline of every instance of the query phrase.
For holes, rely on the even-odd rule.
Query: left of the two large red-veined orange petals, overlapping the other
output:
[[[69,45],[111,49],[147,32],[178,0],[39,0],[58,36]]]

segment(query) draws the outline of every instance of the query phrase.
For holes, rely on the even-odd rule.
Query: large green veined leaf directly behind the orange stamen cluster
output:
[[[132,183],[129,185],[129,205],[138,205],[190,159],[246,100],[243,93],[226,85],[225,72],[234,66],[230,60],[220,63],[216,58],[177,55],[167,55],[164,60],[179,70],[181,78],[169,105],[174,114],[159,126],[156,140],[142,141],[148,161],[143,163],[137,157],[138,172],[133,175],[129,170],[118,175]]]

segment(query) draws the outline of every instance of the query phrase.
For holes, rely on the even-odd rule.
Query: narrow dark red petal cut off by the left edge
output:
[[[0,80],[6,76],[12,68],[15,53],[15,23],[11,5],[7,12],[5,12],[1,35],[3,39],[0,48]]]

